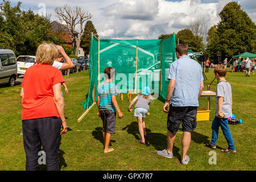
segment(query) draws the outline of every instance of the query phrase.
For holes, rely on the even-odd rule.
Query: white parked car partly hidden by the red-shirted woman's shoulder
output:
[[[29,67],[35,64],[35,56],[19,56],[17,58],[17,73],[24,75]]]

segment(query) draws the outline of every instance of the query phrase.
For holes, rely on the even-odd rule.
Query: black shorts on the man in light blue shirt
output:
[[[170,106],[167,118],[167,129],[176,134],[182,123],[182,131],[192,133],[196,129],[196,106],[174,107]]]

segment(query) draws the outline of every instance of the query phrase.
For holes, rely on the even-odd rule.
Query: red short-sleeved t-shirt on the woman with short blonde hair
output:
[[[59,69],[49,64],[36,64],[28,68],[22,82],[22,120],[60,117],[52,86],[63,82]]]

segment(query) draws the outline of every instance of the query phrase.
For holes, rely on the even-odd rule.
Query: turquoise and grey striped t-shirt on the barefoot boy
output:
[[[102,82],[98,86],[98,96],[100,96],[100,110],[117,111],[111,100],[112,96],[117,96],[117,86],[112,82]]]

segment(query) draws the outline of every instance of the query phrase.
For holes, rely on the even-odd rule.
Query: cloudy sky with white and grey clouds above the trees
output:
[[[43,3],[52,20],[58,20],[54,8],[59,5],[81,6],[93,15],[91,20],[100,38],[155,39],[186,28],[199,18],[210,28],[220,21],[218,13],[232,0],[11,0],[11,5],[18,1],[22,2],[22,9],[35,13],[39,13],[42,6],[38,5]],[[238,2],[255,22],[255,0]]]

